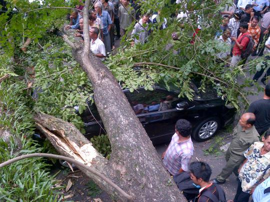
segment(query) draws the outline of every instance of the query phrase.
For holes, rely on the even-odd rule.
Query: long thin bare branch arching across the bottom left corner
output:
[[[108,183],[111,187],[113,187],[115,190],[117,190],[117,192],[122,195],[124,198],[126,198],[129,202],[133,201],[133,198],[126,194],[121,188],[119,188],[117,185],[115,185],[113,182],[111,182],[111,180],[109,180],[108,178],[106,178],[102,173],[99,173],[98,171],[96,171],[95,169],[92,169],[88,166],[85,166],[83,163],[80,163],[74,159],[68,158],[68,157],[64,157],[64,156],[60,156],[60,155],[54,155],[54,154],[45,154],[45,153],[33,153],[33,154],[26,154],[26,155],[21,155],[19,157],[15,157],[13,159],[10,159],[8,161],[5,161],[3,163],[0,164],[0,168],[3,168],[4,166],[7,166],[9,164],[12,164],[14,162],[20,161],[22,159],[27,159],[27,158],[33,158],[33,157],[46,157],[46,158],[52,158],[52,159],[61,159],[70,163],[73,163],[79,167],[84,168],[85,170],[93,173],[94,175],[98,176],[99,178],[101,178],[102,180],[104,180],[106,183]]]

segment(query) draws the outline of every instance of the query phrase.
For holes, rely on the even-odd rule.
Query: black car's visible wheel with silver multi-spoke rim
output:
[[[220,128],[220,120],[210,117],[201,121],[192,131],[192,138],[197,142],[203,142],[212,138]]]

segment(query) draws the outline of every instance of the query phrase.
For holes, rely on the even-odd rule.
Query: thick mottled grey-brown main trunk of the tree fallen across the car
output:
[[[87,27],[88,24],[85,30]],[[86,37],[84,47],[71,46],[72,54],[92,83],[95,105],[112,148],[109,161],[104,162],[99,169],[113,183],[131,195],[134,201],[186,201],[176,185],[170,183],[168,172],[164,169],[162,161],[119,84],[99,58],[89,54],[89,50],[85,50],[89,45],[89,41],[85,40]],[[68,43],[70,44],[70,41]],[[72,136],[80,139],[78,134]],[[112,195],[110,190],[100,186]]]

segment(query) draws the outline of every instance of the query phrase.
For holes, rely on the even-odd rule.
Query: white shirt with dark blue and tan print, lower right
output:
[[[270,152],[260,155],[262,147],[262,142],[254,142],[244,153],[247,162],[239,172],[243,192],[249,193],[251,188],[262,178],[266,180],[269,177],[270,169],[264,175],[263,173],[270,164]]]

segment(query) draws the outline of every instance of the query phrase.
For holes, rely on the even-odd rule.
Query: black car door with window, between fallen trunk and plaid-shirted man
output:
[[[162,89],[138,89],[132,93],[126,92],[126,96],[153,144],[170,141],[176,121],[186,114],[186,110],[175,109],[176,104],[183,100]]]

